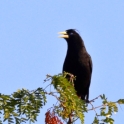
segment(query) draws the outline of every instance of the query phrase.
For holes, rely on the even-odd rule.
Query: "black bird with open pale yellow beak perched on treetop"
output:
[[[74,87],[77,95],[86,102],[89,101],[89,87],[92,74],[92,60],[86,51],[81,36],[74,29],[69,29],[60,37],[67,41],[68,49],[63,64],[63,72],[68,72],[76,76]]]

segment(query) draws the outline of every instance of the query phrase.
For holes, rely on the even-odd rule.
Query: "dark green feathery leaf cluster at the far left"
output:
[[[21,124],[21,122],[35,122],[40,108],[46,103],[45,92],[42,88],[35,91],[18,90],[12,95],[0,94],[0,114],[3,122]],[[0,122],[2,124],[2,120]]]

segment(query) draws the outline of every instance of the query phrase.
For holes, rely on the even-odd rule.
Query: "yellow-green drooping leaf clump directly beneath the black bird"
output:
[[[69,81],[65,78],[68,75],[70,76]],[[63,119],[73,116],[73,121],[75,118],[80,118],[81,122],[84,123],[84,112],[87,112],[86,104],[77,96],[73,80],[75,80],[75,77],[69,73],[52,77],[51,84],[59,93],[59,104],[54,106],[54,111]]]

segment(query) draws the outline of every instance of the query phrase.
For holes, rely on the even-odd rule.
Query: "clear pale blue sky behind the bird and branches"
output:
[[[124,98],[123,0],[1,0],[0,92],[44,87],[46,74],[62,72],[67,44],[57,32],[70,28],[79,31],[92,57],[90,99],[103,93],[110,101]],[[44,124],[52,102],[48,97],[36,124]],[[85,124],[94,116],[86,114]],[[113,118],[124,122],[124,106]]]

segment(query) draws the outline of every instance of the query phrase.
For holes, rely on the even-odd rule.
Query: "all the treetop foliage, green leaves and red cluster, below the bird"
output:
[[[46,112],[46,124],[64,124],[59,117],[61,117],[67,124],[72,124],[77,119],[80,119],[81,123],[84,124],[84,114],[91,110],[95,112],[93,124],[113,124],[114,119],[112,118],[112,115],[113,113],[118,112],[118,105],[124,104],[124,99],[112,102],[108,101],[103,94],[90,100],[89,104],[92,108],[87,108],[85,101],[81,100],[76,95],[73,84],[74,80],[75,77],[69,73],[54,76],[47,75],[45,82],[50,81],[50,84],[48,84],[47,87],[53,86],[56,92],[48,92],[46,87],[44,89],[38,88],[33,91],[21,89],[11,95],[0,94],[0,124],[5,121],[7,121],[8,124],[21,124],[22,122],[27,121],[32,123],[36,122],[41,108],[47,102],[47,95],[55,97],[57,103]],[[98,98],[101,98],[102,103],[100,106],[94,107],[93,102]],[[98,108],[100,109],[99,114],[96,112],[96,109]]]

